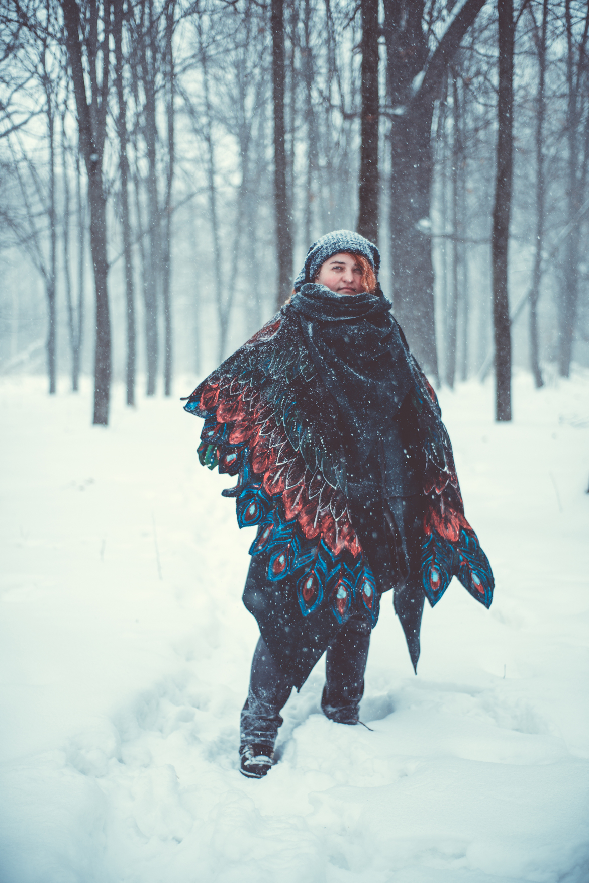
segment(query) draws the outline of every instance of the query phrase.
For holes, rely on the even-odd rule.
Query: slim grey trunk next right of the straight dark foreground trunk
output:
[[[548,0],[542,3],[542,24],[538,45],[538,94],[536,98],[536,253],[532,270],[532,287],[528,295],[530,301],[530,367],[536,389],[544,385],[540,371],[538,345],[538,299],[542,279],[542,252],[544,250],[544,214],[546,206],[546,187],[544,182],[544,117],[546,100],[544,95],[544,79],[546,75],[546,32],[547,32]]]

